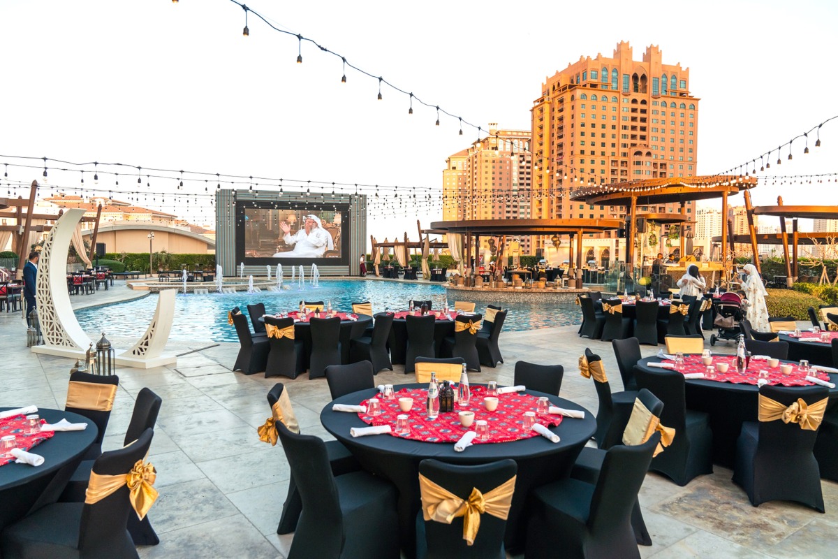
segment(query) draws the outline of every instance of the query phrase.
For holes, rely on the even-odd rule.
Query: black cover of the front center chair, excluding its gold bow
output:
[[[419,473],[433,483],[447,489],[461,499],[468,499],[473,489],[482,494],[508,481],[518,471],[515,460],[477,466],[458,466],[422,460]],[[455,518],[451,524],[425,520],[422,510],[416,515],[416,559],[505,559],[504,531],[506,520],[484,513],[480,515],[480,529],[474,544],[463,540],[463,517]]]

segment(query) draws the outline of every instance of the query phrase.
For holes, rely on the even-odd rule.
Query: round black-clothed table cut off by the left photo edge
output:
[[[0,407],[0,411],[9,409],[12,408]],[[98,433],[96,423],[77,413],[39,408],[38,415],[48,423],[66,418],[70,423],[87,423],[87,428],[84,431],[56,432],[53,437],[29,449],[30,453],[44,457],[44,463],[38,467],[18,463],[0,466],[0,530],[57,501]]]

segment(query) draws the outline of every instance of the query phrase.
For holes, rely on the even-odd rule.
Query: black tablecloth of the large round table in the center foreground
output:
[[[423,384],[395,386],[402,388],[423,388]],[[334,435],[358,458],[368,472],[390,480],[399,490],[399,531],[401,548],[407,556],[416,553],[416,513],[422,500],[419,494],[419,463],[425,458],[434,458],[445,463],[482,464],[511,458],[518,463],[515,495],[512,498],[509,519],[506,521],[504,543],[507,549],[521,547],[525,538],[523,519],[524,505],[530,489],[566,478],[582,447],[593,436],[597,421],[590,411],[572,401],[536,391],[525,391],[532,396],[548,396],[551,404],[566,409],[585,411],[584,419],[565,417],[558,427],[550,427],[561,441],[551,443],[544,437],[531,437],[512,443],[475,444],[462,453],[454,451],[452,443],[423,443],[392,435],[370,435],[352,437],[351,427],[368,427],[357,413],[332,411],[333,404],[357,405],[375,396],[376,389],[367,389],[341,396],[320,413],[323,427]],[[503,396],[501,396],[503,397]],[[422,403],[420,402],[420,405]]]

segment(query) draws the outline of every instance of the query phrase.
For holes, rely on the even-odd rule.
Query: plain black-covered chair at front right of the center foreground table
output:
[[[596,484],[561,479],[530,494],[525,556],[638,557],[631,524],[637,494],[660,441],[655,432],[645,443],[609,448]]]

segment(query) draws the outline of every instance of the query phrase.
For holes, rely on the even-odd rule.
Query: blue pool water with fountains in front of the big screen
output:
[[[237,342],[235,329],[227,323],[227,312],[233,307],[247,313],[247,305],[265,303],[268,313],[296,310],[300,300],[332,302],[335,310],[349,311],[353,302],[371,301],[375,313],[385,308],[405,309],[411,299],[432,301],[432,308],[442,308],[446,301],[445,287],[427,283],[375,282],[365,280],[321,280],[319,287],[297,287],[281,292],[209,293],[183,295],[175,298],[171,339],[211,339],[215,342]],[[75,311],[85,332],[105,332],[109,337],[139,338],[157,308],[157,295]],[[454,299],[448,298],[453,307]],[[533,330],[578,323],[579,308],[573,303],[502,303],[510,312],[504,330]],[[478,312],[485,303],[478,303]]]

